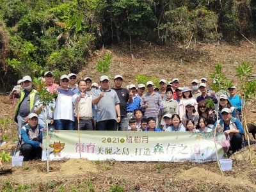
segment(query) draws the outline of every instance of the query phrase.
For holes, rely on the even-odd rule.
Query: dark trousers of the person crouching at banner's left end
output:
[[[24,161],[29,161],[33,159],[42,159],[42,148],[33,147],[30,144],[22,144],[20,147],[20,152],[24,156]]]

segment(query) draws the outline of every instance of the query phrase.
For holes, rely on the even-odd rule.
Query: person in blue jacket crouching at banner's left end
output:
[[[20,152],[24,156],[24,161],[42,158],[42,125],[38,124],[36,113],[28,115],[28,124],[24,125],[20,131],[21,147]]]

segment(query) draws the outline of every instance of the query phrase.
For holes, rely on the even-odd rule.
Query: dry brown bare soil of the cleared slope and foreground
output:
[[[255,40],[252,42],[256,45]],[[132,52],[127,44],[102,47],[92,54],[90,62],[79,76],[91,76],[94,82],[99,83],[102,74],[95,70],[95,65],[106,52],[113,55],[111,76],[122,75],[124,85],[137,84],[135,75],[139,74],[168,81],[178,77],[181,86],[189,86],[193,79],[210,79],[209,74],[214,72],[214,66],[219,62],[224,64],[223,72],[234,79],[235,85],[239,87],[240,82],[234,77],[235,67],[249,61],[255,68],[256,50],[246,41],[239,44],[196,42],[191,44],[188,52],[185,47],[150,42],[134,43]],[[255,123],[256,113],[252,113],[255,100],[248,102],[246,108],[247,121]],[[1,128],[3,118],[12,118],[13,111],[8,96],[0,97]],[[0,153],[2,150],[10,152],[15,146],[15,127],[11,121],[6,124],[5,134],[8,134],[9,140],[0,147]],[[47,173],[46,162],[28,161],[22,167],[12,168],[12,173],[0,175],[0,191],[256,191],[255,152],[256,147],[252,146],[252,162],[248,148],[231,156],[234,159],[233,168],[223,175],[216,162],[200,164],[63,159],[50,162],[50,172]],[[11,164],[4,163],[4,168],[11,168]]]

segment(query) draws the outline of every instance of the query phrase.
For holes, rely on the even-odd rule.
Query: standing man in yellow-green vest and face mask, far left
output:
[[[36,90],[32,88],[32,79],[29,76],[22,78],[23,89],[20,92],[15,92],[19,95],[19,100],[15,107],[15,122],[18,124],[18,136],[20,135],[20,129],[26,123],[28,123],[28,115],[32,113],[35,108],[35,102],[38,99]]]

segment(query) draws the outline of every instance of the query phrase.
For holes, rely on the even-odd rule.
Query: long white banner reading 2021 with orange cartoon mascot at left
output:
[[[226,137],[214,132],[132,132],[80,131],[81,157],[90,160],[116,161],[216,161],[227,149]],[[50,131],[43,140],[42,160],[79,158],[78,131]]]

